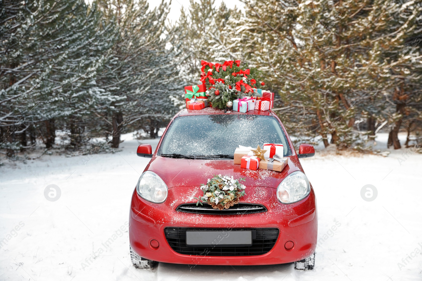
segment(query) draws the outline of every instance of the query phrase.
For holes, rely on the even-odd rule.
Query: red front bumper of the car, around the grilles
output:
[[[169,190],[166,200],[168,203],[161,204],[143,200],[136,190],[133,193],[129,217],[130,246],[143,258],[190,265],[271,265],[303,260],[315,251],[317,209],[312,188],[308,197],[292,204],[281,204],[274,198],[275,196],[263,200],[264,202],[250,200],[250,203],[265,205],[268,211],[247,215],[205,215],[176,211],[177,206],[185,202],[173,198],[172,189]],[[180,190],[178,193],[180,195]],[[243,197],[242,201],[248,202],[248,197]],[[170,247],[165,237],[165,227],[278,228],[279,236],[273,248],[262,255],[236,257],[185,255],[175,252]],[[157,248],[151,246],[152,240],[158,241]],[[292,249],[287,250],[284,247],[287,241],[294,243]]]

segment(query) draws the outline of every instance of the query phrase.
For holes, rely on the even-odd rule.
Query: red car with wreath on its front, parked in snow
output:
[[[283,144],[287,165],[279,171],[242,169],[233,154],[238,145]],[[129,216],[130,255],[137,268],[157,262],[189,265],[272,265],[295,262],[313,269],[317,245],[317,206],[312,185],[289,135],[273,112],[181,110],[157,149],[140,145],[151,161],[133,192]],[[246,195],[229,209],[204,203],[201,184],[214,175],[246,178]],[[229,234],[227,243],[215,243]],[[232,239],[233,238],[233,239]],[[189,241],[190,240],[190,241]]]

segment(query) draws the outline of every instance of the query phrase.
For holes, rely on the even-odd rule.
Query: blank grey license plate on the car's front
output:
[[[252,231],[186,231],[186,245],[211,247],[251,246]]]

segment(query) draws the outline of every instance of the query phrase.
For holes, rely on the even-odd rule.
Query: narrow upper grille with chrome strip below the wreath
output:
[[[176,211],[194,214],[213,214],[213,215],[242,215],[256,214],[266,212],[267,208],[259,204],[238,203],[229,209],[213,209],[210,204],[204,203],[202,206],[196,206],[196,203],[182,204],[177,207]]]

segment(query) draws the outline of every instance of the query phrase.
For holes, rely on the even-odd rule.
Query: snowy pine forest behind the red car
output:
[[[156,138],[201,60],[256,67],[295,139],[366,150],[382,131],[395,149],[422,144],[422,0],[191,0],[176,22],[146,0],[0,5],[4,157]]]

